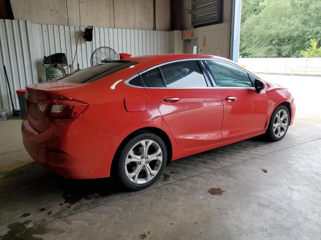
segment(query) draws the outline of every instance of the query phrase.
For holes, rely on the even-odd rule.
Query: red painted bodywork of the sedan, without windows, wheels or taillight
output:
[[[265,84],[259,93],[254,87],[159,89],[125,83],[152,66],[186,58],[235,64],[211,55],[147,55],[129,57],[126,60],[137,63],[91,83],[56,80],[28,85],[28,110],[22,123],[27,151],[35,161],[64,177],[108,177],[117,149],[141,129],[161,135],[169,160],[175,160],[263,134],[281,103],[288,107],[292,124],[295,104],[291,94],[253,73]],[[229,96],[237,101],[228,100]],[[61,98],[87,103],[86,109],[70,119],[41,115],[39,102]],[[180,101],[175,102],[177,98]]]

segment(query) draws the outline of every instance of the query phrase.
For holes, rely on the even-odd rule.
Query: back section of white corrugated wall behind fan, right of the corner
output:
[[[32,30],[32,48],[35,52],[38,78],[39,81],[45,81],[46,75],[42,66],[44,56],[65,52],[68,64],[71,64],[76,51],[77,37],[85,31],[85,27],[33,23]],[[79,38],[73,70],[77,68],[77,63],[81,69],[90,66],[91,53],[100,46],[108,46],[118,53],[126,52],[132,55],[169,53],[170,32],[95,27],[92,42],[86,42],[82,36]]]

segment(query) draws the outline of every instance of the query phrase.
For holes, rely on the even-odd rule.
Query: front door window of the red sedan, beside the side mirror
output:
[[[209,65],[218,86],[252,87],[249,75],[239,67],[223,61],[206,60],[205,62]]]

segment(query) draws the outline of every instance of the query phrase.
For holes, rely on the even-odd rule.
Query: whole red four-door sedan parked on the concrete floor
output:
[[[260,134],[277,141],[293,122],[286,88],[228,59],[125,56],[27,86],[22,133],[35,161],[142,189],[171,160]]]

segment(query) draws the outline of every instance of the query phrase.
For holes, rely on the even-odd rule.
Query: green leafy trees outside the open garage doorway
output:
[[[320,38],[321,0],[243,0],[240,56],[321,57]]]

